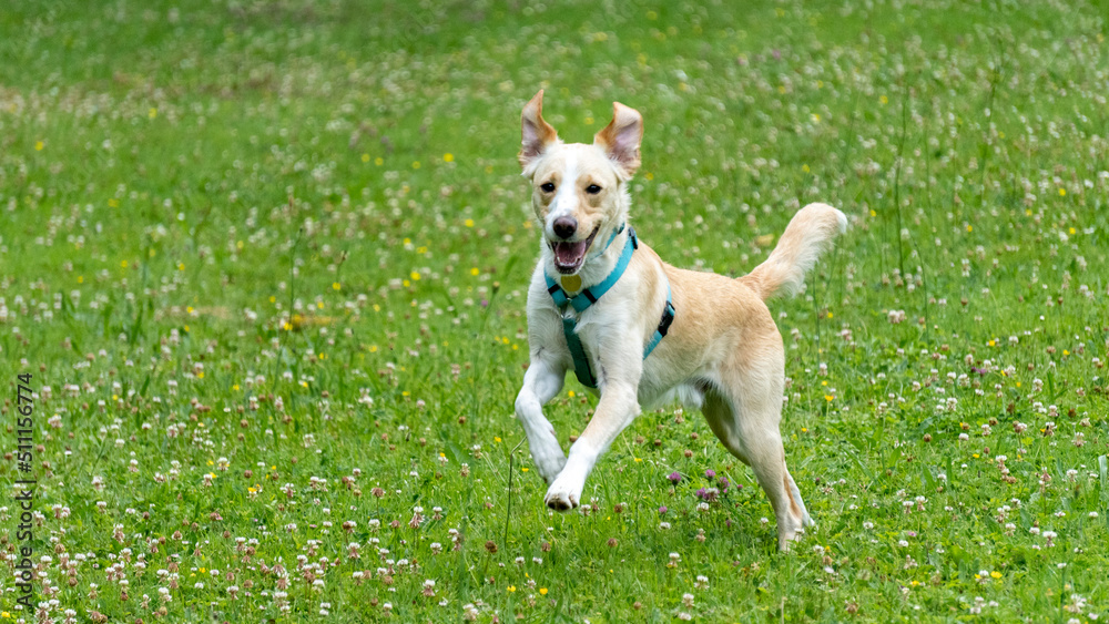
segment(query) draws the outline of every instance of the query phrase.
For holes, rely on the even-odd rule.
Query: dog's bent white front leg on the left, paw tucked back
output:
[[[536,469],[548,483],[562,471],[566,456],[554,437],[554,428],[543,416],[543,406],[559,393],[564,378],[566,367],[535,357],[523,374],[523,387],[516,396],[516,418],[528,434]]]

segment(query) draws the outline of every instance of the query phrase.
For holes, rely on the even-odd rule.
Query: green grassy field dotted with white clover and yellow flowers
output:
[[[0,622],[1109,610],[1103,0],[9,4],[0,540],[41,605],[4,574]],[[792,552],[675,406],[542,505],[512,416],[540,88],[571,141],[643,113],[633,223],[672,264],[741,275],[798,206],[848,214],[771,304]],[[593,405],[570,376],[547,413]]]

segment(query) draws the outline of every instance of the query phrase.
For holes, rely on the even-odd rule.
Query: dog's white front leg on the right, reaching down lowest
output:
[[[617,436],[639,416],[637,387],[629,382],[609,382],[601,389],[597,413],[570,447],[566,467],[547,490],[547,507],[566,511],[581,503],[586,478]]]

